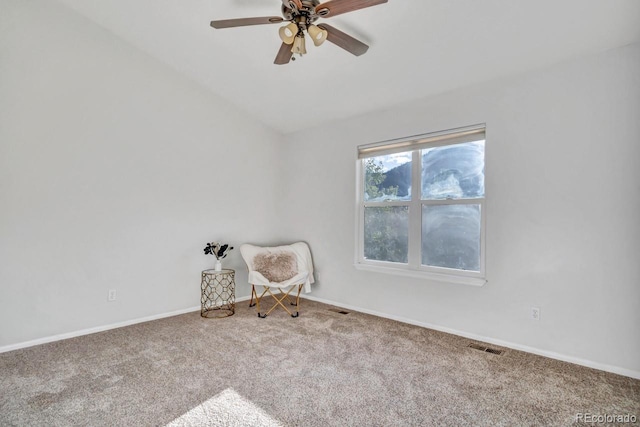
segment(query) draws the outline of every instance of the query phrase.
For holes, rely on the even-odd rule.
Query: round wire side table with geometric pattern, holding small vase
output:
[[[200,316],[227,317],[236,311],[236,272],[231,269],[204,270],[200,288]]]

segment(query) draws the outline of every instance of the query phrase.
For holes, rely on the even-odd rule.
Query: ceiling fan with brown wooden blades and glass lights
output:
[[[282,17],[263,16],[257,18],[237,18],[211,21],[211,26],[216,29],[245,27],[248,25],[279,24],[289,22],[279,30],[282,45],[276,55],[274,64],[287,64],[294,54],[304,55],[305,31],[313,41],[320,46],[325,40],[329,40],[356,56],[364,54],[369,46],[337,28],[327,24],[315,25],[319,18],[331,18],[343,13],[352,12],[366,7],[386,3],[388,0],[282,0]]]

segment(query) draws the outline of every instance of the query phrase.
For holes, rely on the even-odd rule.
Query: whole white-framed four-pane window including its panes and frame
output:
[[[485,127],[358,147],[356,267],[484,284]]]

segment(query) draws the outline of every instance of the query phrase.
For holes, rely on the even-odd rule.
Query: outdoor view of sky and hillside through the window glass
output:
[[[412,152],[363,159],[364,257],[407,263],[411,208],[421,216],[421,263],[480,270],[484,140],[419,151],[419,205],[411,203]]]

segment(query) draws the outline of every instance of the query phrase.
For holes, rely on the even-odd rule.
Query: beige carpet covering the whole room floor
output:
[[[190,313],[0,354],[0,426],[570,426],[578,414],[640,418],[638,380],[514,350],[481,352],[464,338],[302,304],[297,319],[282,310],[259,319],[242,302],[225,319]]]

